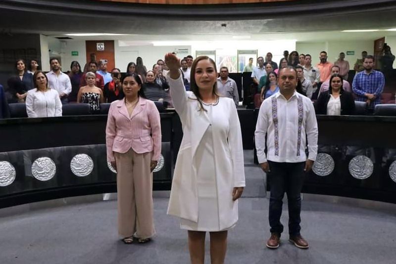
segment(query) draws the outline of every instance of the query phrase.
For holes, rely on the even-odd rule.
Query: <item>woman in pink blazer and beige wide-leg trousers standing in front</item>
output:
[[[161,124],[141,88],[139,75],[125,76],[125,98],[111,103],[106,126],[107,160],[117,170],[118,233],[126,244],[155,234],[151,172],[161,153]]]

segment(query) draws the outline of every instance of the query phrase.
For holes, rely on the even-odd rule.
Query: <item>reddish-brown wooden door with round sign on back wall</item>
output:
[[[104,47],[101,44],[103,44]],[[103,50],[98,50],[98,46],[99,48],[103,47]],[[115,67],[113,40],[87,40],[85,42],[85,47],[87,51],[87,62],[90,62],[91,54],[95,53],[98,64],[100,60],[107,60],[108,72]]]

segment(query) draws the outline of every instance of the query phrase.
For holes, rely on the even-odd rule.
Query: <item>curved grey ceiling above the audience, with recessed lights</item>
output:
[[[3,2],[16,2],[4,1]],[[56,2],[56,1],[35,1]],[[62,2],[62,1],[58,1]],[[267,13],[262,16],[257,14],[257,9],[251,9],[251,15],[246,16],[246,6],[237,11],[244,12],[244,15],[235,13],[236,19],[230,19],[225,15],[219,15],[220,19],[214,19],[209,15],[188,15],[189,10],[177,9],[169,11],[162,5],[156,8],[151,15],[128,16],[124,13],[120,15],[113,12],[105,12],[90,8],[101,7],[95,3],[91,7],[87,1],[79,1],[82,5],[80,11],[73,9],[72,4],[76,1],[66,1],[70,6],[66,8],[45,5],[32,5],[23,8],[18,6],[4,5],[0,3],[0,33],[39,33],[48,36],[63,36],[65,33],[117,33],[128,34],[127,36],[101,36],[100,39],[120,39],[135,41],[166,41],[166,40],[188,40],[188,41],[208,41],[208,40],[227,40],[232,36],[249,36],[246,40],[282,40],[293,39],[297,41],[323,41],[323,40],[373,40],[383,36],[394,36],[396,32],[378,31],[370,33],[344,33],[342,30],[348,29],[390,29],[396,28],[396,1],[377,0],[376,5],[367,5],[358,9],[346,6],[344,9],[339,2],[371,2],[372,1],[325,1],[315,2],[312,7],[321,11],[310,10],[310,5],[287,5],[282,4],[284,9],[277,13],[268,13],[271,8],[279,6],[266,5]],[[92,1],[91,1],[92,2]],[[312,2],[312,1],[292,1],[292,2]],[[381,5],[380,2],[387,2]],[[43,4],[43,3],[42,3]],[[92,3],[91,3],[92,4]],[[108,4],[108,3],[107,3]],[[324,5],[327,4],[327,5]],[[339,8],[330,8],[329,4],[336,4]],[[280,5],[278,3],[278,5]],[[322,6],[323,5],[323,6]],[[111,5],[110,7],[128,7],[130,5]],[[148,5],[146,5],[148,6]],[[256,5],[248,5],[254,7]],[[265,7],[264,4],[257,8]],[[41,7],[41,8],[39,8]],[[114,8],[115,8],[114,7]],[[203,8],[203,9],[202,9]],[[207,7],[209,8],[209,7]],[[313,9],[315,9],[313,8]],[[328,8],[328,9],[326,9]],[[311,8],[312,9],[312,8]],[[204,13],[204,7],[196,9],[197,13]],[[218,6],[215,11],[222,13],[223,7]],[[275,10],[275,9],[274,9]],[[276,9],[278,10],[278,9]],[[326,10],[329,10],[328,12]],[[166,16],[167,12],[172,15]],[[228,12],[229,9],[224,9]],[[237,12],[235,11],[235,12]],[[264,12],[264,11],[263,11]],[[213,10],[208,9],[212,14]],[[100,15],[98,15],[100,14]],[[230,13],[232,14],[232,13]],[[225,19],[227,18],[227,19]],[[251,18],[251,19],[248,19]],[[226,26],[222,25],[226,24]],[[98,39],[98,37],[71,37],[73,39]]]

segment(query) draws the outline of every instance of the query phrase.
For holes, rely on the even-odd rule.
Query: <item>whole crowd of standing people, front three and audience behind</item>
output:
[[[362,67],[360,61],[355,63],[352,85],[344,58],[340,53],[333,64],[323,51],[320,63],[312,66],[310,54],[285,51],[279,67],[271,53],[265,59],[258,57],[258,66],[245,67],[251,69],[254,104],[259,108],[258,163],[270,182],[271,234],[266,242],[270,249],[280,246],[285,193],[289,241],[297,248],[309,248],[301,235],[300,195],[318,152],[316,114],[353,114],[355,100],[367,106],[380,103],[385,77],[374,70],[374,57],[365,54]],[[229,69],[218,70],[208,56],[180,59],[174,53],[158,59],[149,70],[138,57],[127,65],[123,78],[118,68],[108,72],[102,60],[88,62],[85,72],[72,61],[68,74],[61,71],[58,59],[49,64],[51,71],[45,74],[37,61],[30,62],[28,71],[25,61],[17,60],[18,75],[9,79],[8,93],[15,102],[26,104],[29,117],[61,116],[62,104],[86,103],[97,112],[101,103],[111,103],[106,155],[117,171],[118,233],[125,244],[147,243],[155,236],[152,171],[161,153],[161,125],[152,101],[175,108],[183,139],[167,213],[178,217],[180,228],[187,230],[191,263],[204,263],[206,232],[211,263],[224,263],[228,231],[238,222],[238,199],[246,185],[239,95]]]

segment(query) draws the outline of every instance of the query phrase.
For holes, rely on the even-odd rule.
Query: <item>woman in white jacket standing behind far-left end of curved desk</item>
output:
[[[35,89],[26,97],[28,117],[62,116],[62,103],[56,90],[48,86],[47,76],[40,70],[33,75]]]

